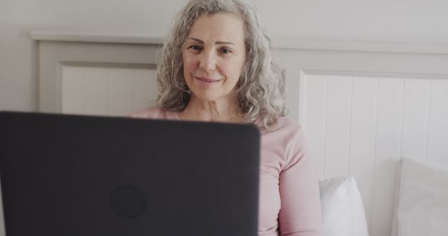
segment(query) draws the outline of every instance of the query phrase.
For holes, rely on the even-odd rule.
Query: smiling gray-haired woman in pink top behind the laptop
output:
[[[283,80],[250,5],[193,0],[165,41],[156,108],[132,117],[257,124],[258,235],[321,235],[318,182],[300,127],[283,117]]]

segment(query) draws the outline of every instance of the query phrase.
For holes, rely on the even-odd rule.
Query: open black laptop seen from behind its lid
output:
[[[0,112],[8,236],[255,236],[251,124]]]

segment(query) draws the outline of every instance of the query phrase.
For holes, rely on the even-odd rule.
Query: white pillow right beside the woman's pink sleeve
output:
[[[353,177],[319,182],[323,236],[368,236],[363,200]]]

